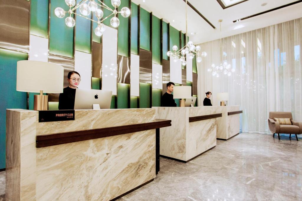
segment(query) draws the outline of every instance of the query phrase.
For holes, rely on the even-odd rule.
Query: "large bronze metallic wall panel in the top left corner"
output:
[[[28,53],[29,1],[0,0],[0,47]]]

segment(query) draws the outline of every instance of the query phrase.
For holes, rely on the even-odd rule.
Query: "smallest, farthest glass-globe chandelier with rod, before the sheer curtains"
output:
[[[222,56],[221,56],[221,52],[222,52],[222,44],[221,44],[221,22],[222,20],[218,20],[218,22],[220,23],[220,66],[216,66],[215,64],[212,64],[211,65],[211,68],[208,68],[208,71],[209,72],[212,72],[212,75],[213,76],[216,76],[216,77],[219,77],[220,73],[223,72],[223,74],[225,75],[228,75],[228,76],[231,76],[232,72],[235,72],[235,69],[231,69],[230,71],[230,68],[231,68],[231,64],[228,64],[227,61],[222,61]]]

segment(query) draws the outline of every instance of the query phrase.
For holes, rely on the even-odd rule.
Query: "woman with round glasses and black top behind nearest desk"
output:
[[[67,75],[69,86],[63,89],[59,96],[59,110],[73,110],[75,105],[76,88],[81,82],[81,76],[76,71],[71,71]]]

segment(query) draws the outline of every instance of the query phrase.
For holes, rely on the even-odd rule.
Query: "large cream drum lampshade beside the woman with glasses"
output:
[[[17,91],[63,93],[64,68],[43,61],[17,62]]]

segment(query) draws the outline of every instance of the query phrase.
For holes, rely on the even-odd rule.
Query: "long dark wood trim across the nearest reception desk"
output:
[[[131,124],[125,126],[107,127],[91,130],[80,130],[66,133],[55,133],[47,135],[38,135],[36,147],[46,147],[59,144],[66,144],[72,142],[79,142],[84,140],[92,140],[102,137],[110,137],[115,135],[134,133],[144,130],[151,130],[156,128],[171,126],[171,120],[156,119],[153,122],[142,124]]]

